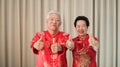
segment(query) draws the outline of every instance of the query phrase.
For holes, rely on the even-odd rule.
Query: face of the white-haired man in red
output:
[[[48,30],[58,31],[60,25],[61,25],[60,16],[56,13],[49,14],[49,17],[47,19]]]

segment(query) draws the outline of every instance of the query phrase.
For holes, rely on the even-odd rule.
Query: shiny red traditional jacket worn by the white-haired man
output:
[[[33,45],[42,36],[44,48],[42,50],[36,50]],[[53,44],[53,38],[56,42],[62,46],[62,51],[57,54],[52,54],[51,45]],[[38,55],[36,67],[67,67],[66,60],[66,41],[69,39],[69,34],[64,32],[58,32],[54,37],[48,32],[36,33],[32,39],[31,48],[35,54]]]

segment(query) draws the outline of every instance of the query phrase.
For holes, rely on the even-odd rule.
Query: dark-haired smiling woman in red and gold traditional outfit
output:
[[[89,27],[88,18],[78,16],[75,19],[74,27],[78,36],[73,38],[73,67],[97,67],[98,40],[87,33]]]

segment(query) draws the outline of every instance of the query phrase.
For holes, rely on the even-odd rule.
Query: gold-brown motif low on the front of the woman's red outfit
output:
[[[90,57],[87,54],[80,55],[80,67],[89,67],[89,64],[91,63]]]

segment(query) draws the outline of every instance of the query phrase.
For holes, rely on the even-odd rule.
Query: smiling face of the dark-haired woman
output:
[[[84,20],[78,20],[76,22],[76,32],[79,36],[84,37],[87,34],[88,27]]]

